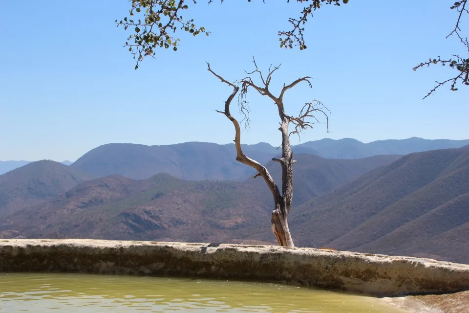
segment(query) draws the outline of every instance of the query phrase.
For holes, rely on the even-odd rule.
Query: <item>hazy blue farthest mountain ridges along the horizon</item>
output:
[[[387,139],[362,143],[356,139],[320,139],[293,146],[293,152],[323,158],[356,159],[377,155],[406,155],[436,149],[460,148],[469,140]],[[280,154],[268,143],[243,145],[244,152],[261,163]],[[28,161],[0,161],[0,175],[20,167]],[[112,143],[85,153],[74,163],[66,165],[93,175],[105,177],[118,174],[131,179],[145,179],[156,173],[167,173],[187,180],[242,181],[252,173],[249,167],[236,162],[234,144],[219,145],[206,142],[186,142],[173,145],[146,146]]]

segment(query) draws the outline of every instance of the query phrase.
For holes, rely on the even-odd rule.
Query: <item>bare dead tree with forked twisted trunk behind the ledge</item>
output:
[[[325,116],[326,125],[328,126],[328,116],[326,113],[327,108],[317,100],[311,101],[309,103],[305,103],[302,110],[299,112],[298,116],[291,116],[285,112],[285,108],[283,105],[283,96],[288,89],[295,87],[297,84],[301,82],[306,82],[309,84],[309,87],[312,88],[311,82],[309,79],[311,77],[305,76],[302,78],[298,78],[296,81],[291,83],[290,85],[283,84],[283,88],[280,91],[278,96],[275,96],[269,90],[269,84],[272,79],[272,74],[279,68],[269,67],[269,71],[267,73],[267,77],[262,75],[262,72],[258,69],[256,61],[253,58],[254,66],[256,69],[248,75],[256,74],[259,76],[260,84],[254,83],[251,76],[246,78],[237,80],[235,83],[230,83],[220,75],[213,72],[210,68],[210,64],[207,62],[208,70],[218,77],[223,83],[233,87],[233,92],[230,94],[228,99],[225,101],[225,110],[224,111],[216,111],[219,113],[224,114],[230,121],[233,122],[235,126],[235,147],[236,147],[236,161],[239,161],[243,164],[249,165],[257,171],[257,174],[254,178],[261,176],[267,186],[269,187],[270,191],[272,192],[272,196],[274,197],[274,210],[272,211],[272,219],[271,219],[271,227],[272,232],[277,238],[277,242],[280,246],[294,246],[292,236],[290,235],[290,230],[288,229],[288,214],[290,212],[292,206],[292,199],[293,199],[293,171],[292,165],[296,161],[293,159],[293,153],[290,146],[290,136],[292,134],[300,134],[303,130],[308,128],[313,128],[315,123],[319,123],[319,120],[315,117],[315,113],[321,113]],[[230,105],[238,94],[238,105],[241,112],[246,113],[247,111],[247,101],[246,96],[249,89],[255,89],[260,95],[267,96],[274,101],[277,105],[278,109],[278,116],[280,117],[280,127],[278,130],[281,132],[282,135],[282,156],[280,158],[272,158],[273,161],[280,163],[282,167],[282,193],[272,179],[269,171],[265,166],[257,162],[256,160],[246,156],[242,149],[241,149],[241,129],[239,126],[238,121],[231,115],[230,113]],[[292,123],[294,125],[294,130],[289,131],[289,125]]]

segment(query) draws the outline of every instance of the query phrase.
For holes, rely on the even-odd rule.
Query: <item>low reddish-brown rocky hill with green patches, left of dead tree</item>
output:
[[[0,237],[227,241],[237,229],[269,227],[270,210],[256,195],[239,182],[108,176],[10,215]]]

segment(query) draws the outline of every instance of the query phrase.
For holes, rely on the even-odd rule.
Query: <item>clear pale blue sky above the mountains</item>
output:
[[[463,51],[455,38],[445,39],[456,19],[451,0],[326,6],[306,24],[304,51],[278,47],[277,31],[301,11],[296,1],[207,2],[189,2],[185,17],[209,37],[179,32],[176,52],[158,50],[134,70],[123,48],[128,32],[114,24],[128,15],[127,0],[0,1],[0,160],[75,160],[111,142],[232,142],[233,125],[215,112],[231,90],[205,61],[234,81],[252,70],[253,55],[261,69],[281,64],[274,92],[300,76],[314,78],[313,89],[303,85],[285,98],[292,115],[313,99],[331,111],[330,133],[318,125],[303,142],[468,138],[469,88],[445,86],[421,100],[434,80],[453,72],[412,71],[429,57]],[[243,143],[280,144],[272,102],[249,96],[252,123]]]

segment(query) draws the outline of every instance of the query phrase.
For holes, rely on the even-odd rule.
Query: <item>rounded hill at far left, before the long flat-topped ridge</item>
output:
[[[51,200],[87,179],[85,173],[48,160],[0,175],[0,217]]]

